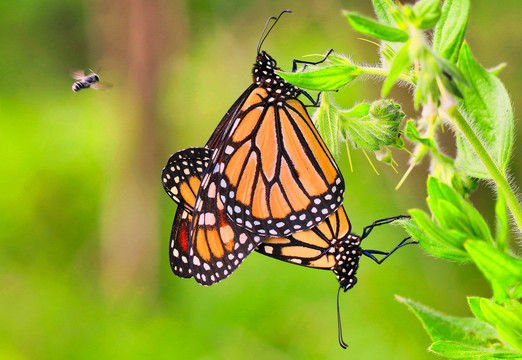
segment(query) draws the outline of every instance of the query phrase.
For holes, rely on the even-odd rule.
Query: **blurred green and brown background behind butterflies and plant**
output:
[[[377,60],[341,16],[371,15],[369,0],[0,2],[0,358],[431,359],[394,294],[456,316],[470,315],[466,295],[491,295],[473,266],[418,247],[380,266],[364,258],[359,283],[341,296],[342,350],[330,272],[254,253],[210,288],[171,273],[175,204],[160,171],[173,152],[206,142],[250,84],[265,20],[285,8],[293,14],[264,45],[281,67],[329,48]],[[508,63],[500,77],[519,109],[521,16],[518,0],[474,0],[467,35],[483,65]],[[71,91],[70,70],[100,66],[111,90]],[[379,91],[376,80],[357,81],[337,101],[351,107]],[[391,97],[414,116],[410,95]],[[340,154],[356,233],[426,208],[427,166],[393,191],[407,167],[397,156],[399,173],[378,164],[377,176],[360,151],[353,173]],[[486,184],[473,196],[490,223],[492,199]],[[383,227],[364,246],[391,249],[404,236]]]

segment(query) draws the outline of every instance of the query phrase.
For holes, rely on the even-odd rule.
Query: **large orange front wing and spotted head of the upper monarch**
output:
[[[272,62],[264,52],[258,56],[257,87],[231,119],[210,166],[219,165],[217,191],[232,222],[287,236],[332,214],[342,203],[344,181],[296,99],[301,90],[281,79]]]

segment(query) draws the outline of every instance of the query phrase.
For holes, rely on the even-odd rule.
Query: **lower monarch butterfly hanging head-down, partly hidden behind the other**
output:
[[[212,150],[207,148],[188,148],[173,154],[168,162],[167,167],[163,170],[164,186],[167,193],[178,203],[178,211],[174,220],[172,237],[171,237],[171,265],[174,273],[180,277],[190,278],[192,272],[188,256],[188,225],[190,215],[187,211],[191,211],[194,207],[195,191],[199,188],[204,168],[208,166],[209,159],[212,157]],[[173,180],[176,179],[177,181]],[[222,209],[221,209],[222,211]],[[179,217],[179,218],[178,218]],[[293,233],[287,237],[280,238],[262,238],[262,243],[255,244],[259,239],[252,241],[248,232],[240,232],[239,242],[235,242],[234,248],[236,253],[240,254],[241,239],[247,244],[247,253],[255,250],[263,255],[282,260],[289,263],[298,264],[316,269],[332,270],[339,281],[339,291],[337,293],[337,311],[339,325],[339,343],[343,348],[347,345],[342,339],[340,313],[339,313],[339,292],[343,289],[345,292],[357,283],[356,272],[359,267],[359,260],[365,255],[381,264],[388,256],[404,245],[414,244],[416,242],[407,242],[404,239],[394,249],[389,252],[379,250],[364,250],[361,248],[361,241],[365,239],[376,226],[389,224],[395,220],[409,218],[409,216],[399,215],[382,220],[375,221],[373,224],[364,228],[361,236],[350,233],[351,224],[343,206],[326,218],[316,227]],[[176,225],[176,222],[180,222]],[[223,226],[233,226],[232,222],[228,222],[224,215],[220,217],[220,224]],[[237,230],[237,227],[236,227]],[[239,231],[242,231],[241,229]],[[236,248],[237,246],[237,248]],[[383,255],[377,259],[375,255]],[[226,260],[227,258],[225,258]],[[234,261],[243,260],[244,256],[237,257]],[[220,260],[218,260],[220,261]],[[229,264],[223,264],[227,269]],[[237,266],[236,266],[237,267]],[[196,279],[201,282],[198,277],[200,268],[193,267],[196,273]],[[209,270],[209,269],[206,269]],[[205,275],[205,274],[203,274]],[[224,274],[229,275],[229,274]],[[205,277],[207,277],[205,275]],[[209,277],[216,274],[211,274]],[[221,280],[217,275],[216,282]]]

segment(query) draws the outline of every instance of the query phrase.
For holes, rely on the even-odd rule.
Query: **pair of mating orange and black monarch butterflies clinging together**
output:
[[[211,285],[257,249],[283,261],[333,270],[346,291],[356,282],[361,255],[380,262],[391,254],[362,250],[361,239],[374,226],[401,217],[374,223],[362,237],[350,234],[341,206],[344,181],[297,99],[302,90],[277,75],[276,61],[260,51],[272,28],[258,43],[253,84],[206,147],[175,153],[163,169],[165,190],[179,204],[171,267],[180,277]],[[385,257],[379,261],[373,254]]]

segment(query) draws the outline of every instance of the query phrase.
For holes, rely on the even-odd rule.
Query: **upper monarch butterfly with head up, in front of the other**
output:
[[[187,237],[184,264],[191,264],[203,285],[230,275],[268,237],[321,223],[343,200],[343,177],[297,99],[302,90],[279,77],[276,61],[261,51],[279,17],[267,21],[259,39],[253,84],[207,143],[215,151],[201,186],[192,189],[192,209],[175,216],[172,237]],[[163,182],[172,186],[167,175],[176,176],[168,174],[169,165],[166,169]],[[188,274],[186,266],[174,266]]]

